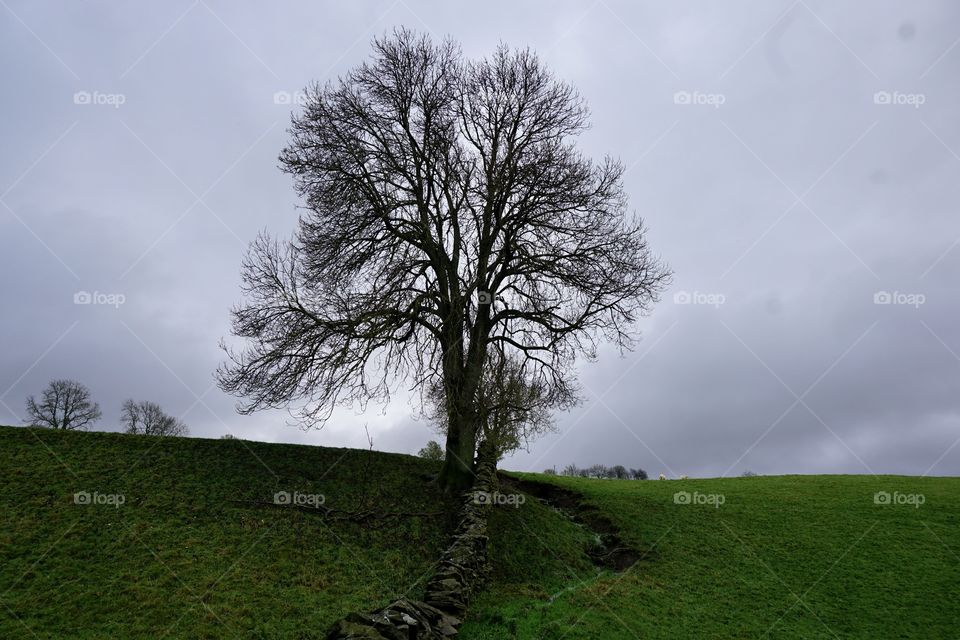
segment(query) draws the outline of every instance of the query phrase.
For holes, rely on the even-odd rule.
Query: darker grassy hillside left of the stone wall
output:
[[[438,470],[352,449],[0,427],[0,638],[322,638],[349,611],[419,595],[452,524],[433,515],[451,509]],[[424,515],[351,522],[253,503],[278,491]],[[584,562],[560,516],[524,512],[569,551],[527,575]],[[507,555],[533,555],[517,541]]]

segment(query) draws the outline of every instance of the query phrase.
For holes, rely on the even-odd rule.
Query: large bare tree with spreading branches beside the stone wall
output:
[[[529,50],[466,60],[400,30],[337,82],[314,85],[280,156],[305,211],[243,267],[218,371],[242,412],[385,401],[439,382],[441,483],[470,484],[488,352],[558,397],[576,356],[629,347],[668,271],[627,210],[623,165],[575,145],[584,101]]]

